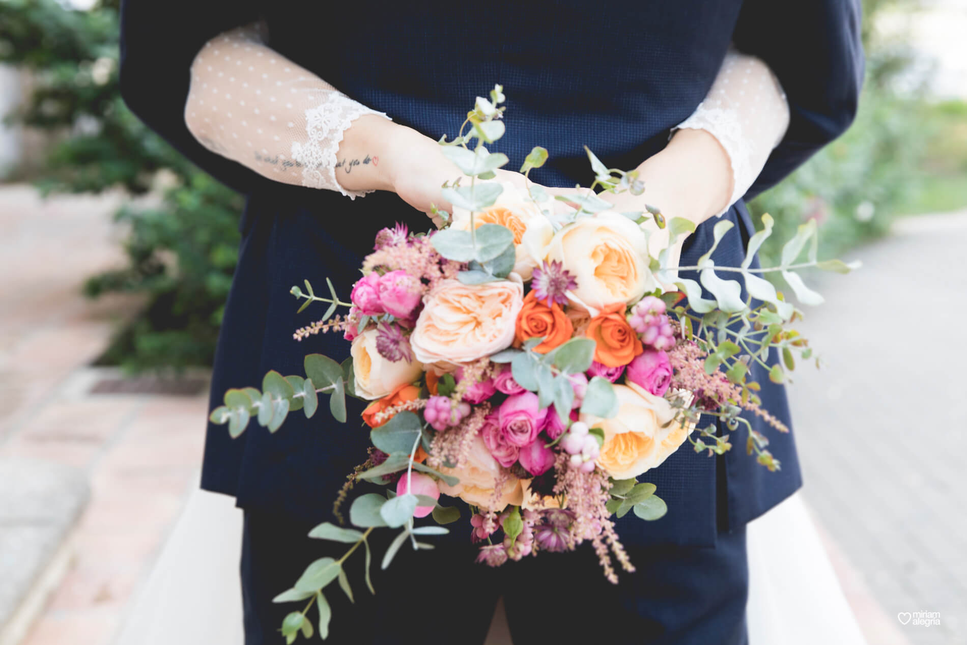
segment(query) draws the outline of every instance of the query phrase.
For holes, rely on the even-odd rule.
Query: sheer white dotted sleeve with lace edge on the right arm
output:
[[[776,75],[754,56],[729,50],[705,101],[677,129],[704,130],[718,139],[732,166],[729,203],[759,176],[789,126],[789,105]]]

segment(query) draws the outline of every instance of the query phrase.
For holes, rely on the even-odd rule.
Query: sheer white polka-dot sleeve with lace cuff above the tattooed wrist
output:
[[[220,34],[191,64],[185,105],[191,134],[278,182],[350,198],[370,192],[345,191],[336,175],[343,132],[364,114],[386,117],[264,44],[254,26]]]

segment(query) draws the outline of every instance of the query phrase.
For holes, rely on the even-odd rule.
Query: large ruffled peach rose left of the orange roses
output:
[[[506,280],[443,280],[424,299],[410,345],[421,363],[467,363],[511,346],[524,286]]]

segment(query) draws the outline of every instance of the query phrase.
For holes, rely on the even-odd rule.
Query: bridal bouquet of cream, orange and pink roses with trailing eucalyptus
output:
[[[651,206],[612,211],[595,189],[640,194],[643,187],[633,172],[607,168],[590,151],[596,180],[584,192],[551,198],[529,182],[488,181],[509,161],[485,148],[504,133],[503,101],[497,86],[489,100],[477,99],[460,136],[440,141],[465,175],[444,186],[453,204],[452,214],[437,213],[445,228],[425,234],[397,224],[380,231],[349,302],[339,300],[331,282],[328,297],[316,295],[308,280],[305,291],[292,288],[304,308],[328,304],[295,338],[341,333],[352,343],[352,358],[339,365],[310,354],[305,376],[271,371],[261,390],[229,390],[212,412],[213,422],[238,436],[253,418],[274,432],[290,412],[311,417],[320,395],[329,397],[340,422],[345,396],[371,401],[363,422],[372,428],[372,448],[349,475],[337,517],[359,480],[385,484],[386,491],[353,500],[354,528],[327,522],[309,534],[349,545],[339,560],[311,563],[276,599],[308,601],[284,621],[290,643],[300,631],[311,635],[306,613],[313,602],[326,637],[323,590],[337,580],[352,598],[342,563],[361,544],[372,591],[373,530],[398,531],[382,557],[385,569],[404,543],[430,548],[421,541],[448,532],[442,525],[461,513],[454,498],[471,514],[478,562],[497,567],[591,542],[604,575],[617,582],[615,563],[634,570],[613,517],[654,520],[666,512],[656,486],[638,478],[687,441],[695,452],[731,448],[729,435],[719,436],[715,424],[700,427],[701,419],[718,417],[730,430],[744,426],[748,454],[770,470],[779,467],[767,438],[740,416],[747,410],[787,429],[761,407],[748,367],[760,363],[781,381],[811,350],[787,328],[799,311],[761,275],[780,272],[801,302],[818,304],[821,297],[795,270],[852,267],[816,261],[810,221],[785,245],[780,266],[749,268],[771,233],[769,216],[749,239],[742,266],[718,267],[711,259],[732,226],[727,220],[716,224],[715,245],[696,266],[671,266],[676,240],[694,225],[665,221]],[[521,172],[526,176],[546,158],[535,148]],[[665,227],[668,244],[653,256],[649,236]],[[807,244],[807,260],[797,263]],[[699,272],[701,285],[678,277],[682,269]],[[730,273],[743,276],[748,298],[739,282],[722,278]],[[339,307],[348,311],[334,315]],[[768,366],[774,347],[782,365]],[[433,521],[418,525],[425,517]]]

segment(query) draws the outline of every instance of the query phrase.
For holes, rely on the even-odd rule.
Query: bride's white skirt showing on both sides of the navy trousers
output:
[[[240,645],[242,512],[196,490],[178,519],[118,643]],[[749,523],[751,645],[865,645],[799,494]],[[506,640],[488,640],[488,644]]]

